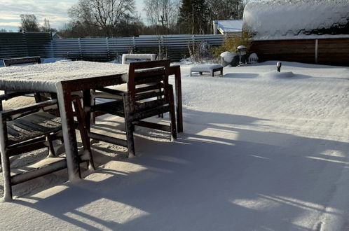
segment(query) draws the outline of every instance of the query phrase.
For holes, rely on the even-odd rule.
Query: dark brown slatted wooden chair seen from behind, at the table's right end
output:
[[[172,139],[176,139],[173,89],[172,85],[168,84],[169,67],[169,60],[131,63],[128,73],[128,92],[123,93],[123,99],[91,106],[92,111],[102,111],[125,118],[127,139],[116,139],[94,132],[89,132],[89,137],[125,146],[128,148],[128,156],[135,155],[133,139],[135,125],[170,132]],[[170,125],[144,121],[145,118],[167,112],[170,113]]]

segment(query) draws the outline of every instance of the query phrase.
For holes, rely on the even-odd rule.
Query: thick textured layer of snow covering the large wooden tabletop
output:
[[[0,89],[6,90],[57,90],[62,80],[91,78],[122,74],[128,80],[128,65],[102,62],[60,61],[29,66],[8,66],[0,69]]]

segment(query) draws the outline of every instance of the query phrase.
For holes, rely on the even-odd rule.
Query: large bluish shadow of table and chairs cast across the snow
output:
[[[347,153],[348,143],[264,132],[267,120],[251,116],[193,110],[184,115],[185,133],[176,142],[137,139],[139,156],[118,159],[130,168],[97,169],[93,174],[109,177],[91,181],[92,175],[45,199],[26,196],[33,204],[14,203],[87,230],[313,230],[285,217],[302,211],[342,216],[339,206],[326,209],[323,195],[333,188],[318,179],[336,182],[348,156],[323,153]],[[238,139],[229,139],[231,134]],[[128,219],[117,222],[128,210]]]

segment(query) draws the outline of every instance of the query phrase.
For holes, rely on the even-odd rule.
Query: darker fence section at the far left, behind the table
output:
[[[0,59],[9,57],[48,57],[50,33],[0,33]]]

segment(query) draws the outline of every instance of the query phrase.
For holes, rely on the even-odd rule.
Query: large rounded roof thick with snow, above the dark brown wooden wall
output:
[[[252,1],[245,7],[243,21],[244,29],[259,40],[349,37],[349,1]]]

